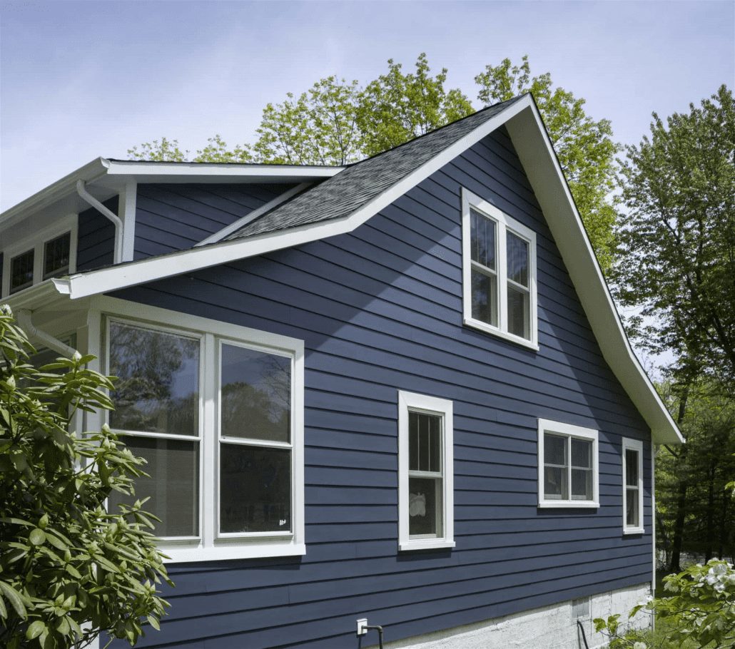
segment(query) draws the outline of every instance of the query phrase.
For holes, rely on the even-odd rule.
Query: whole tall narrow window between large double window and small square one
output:
[[[398,549],[454,547],[452,402],[398,391]]]

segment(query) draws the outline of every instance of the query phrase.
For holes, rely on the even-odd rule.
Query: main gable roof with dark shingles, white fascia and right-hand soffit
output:
[[[76,273],[65,280],[48,280],[11,296],[8,301],[25,304],[33,295],[46,296],[43,292],[49,290],[71,300],[110,293],[352,232],[501,126],[507,129],[526,171],[604,359],[650,426],[654,440],[684,442],[625,335],[559,160],[530,95],[481,110],[339,173],[330,170],[329,175],[334,177],[245,223],[217,243]]]

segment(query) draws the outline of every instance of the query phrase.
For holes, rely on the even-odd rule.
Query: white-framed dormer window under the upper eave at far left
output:
[[[44,279],[76,270],[77,217],[68,215],[32,237],[2,249],[0,293],[18,293]]]

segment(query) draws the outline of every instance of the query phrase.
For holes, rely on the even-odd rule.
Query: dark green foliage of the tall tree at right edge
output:
[[[735,389],[735,102],[724,85],[700,107],[627,147],[628,213],[614,279],[638,307],[631,333],[657,354],[673,350],[676,378],[700,372]],[[644,318],[648,318],[645,324]]]

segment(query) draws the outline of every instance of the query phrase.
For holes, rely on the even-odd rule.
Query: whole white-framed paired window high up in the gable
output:
[[[462,189],[464,323],[538,349],[536,233]]]

